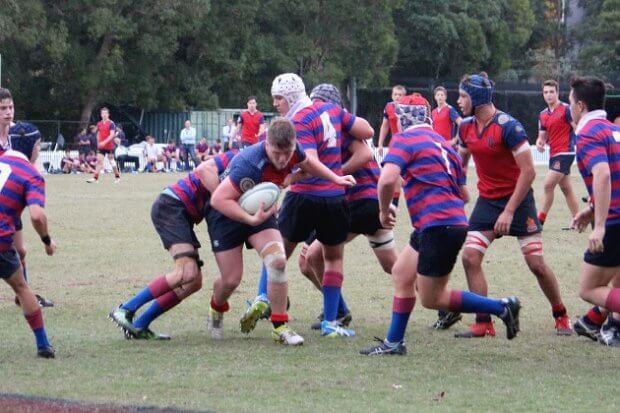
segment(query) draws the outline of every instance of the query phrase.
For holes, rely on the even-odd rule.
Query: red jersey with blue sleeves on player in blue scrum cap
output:
[[[464,119],[459,137],[476,164],[480,196],[500,199],[512,195],[521,172],[512,151],[528,142],[523,125],[509,114],[497,111],[481,134],[474,117]]]

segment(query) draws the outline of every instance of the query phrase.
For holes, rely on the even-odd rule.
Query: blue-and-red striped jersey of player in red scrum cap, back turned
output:
[[[413,228],[467,226],[460,188],[465,183],[461,157],[429,125],[394,135],[384,162],[401,169]]]

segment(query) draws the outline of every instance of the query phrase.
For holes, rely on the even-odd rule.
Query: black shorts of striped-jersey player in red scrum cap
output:
[[[409,245],[419,254],[418,273],[443,277],[452,272],[456,257],[467,238],[467,227],[442,225],[414,231]]]

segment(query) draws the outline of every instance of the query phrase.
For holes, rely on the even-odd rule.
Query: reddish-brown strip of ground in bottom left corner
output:
[[[174,407],[132,406],[53,399],[25,394],[0,393],[0,413],[212,413]]]

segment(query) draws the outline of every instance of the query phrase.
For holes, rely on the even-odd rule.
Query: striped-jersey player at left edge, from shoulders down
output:
[[[24,279],[19,256],[13,246],[15,225],[27,206],[32,226],[45,244],[45,252],[54,255],[56,251],[43,210],[45,181],[22,153],[13,150],[0,156],[0,177],[0,278],[9,284],[19,299],[37,342],[37,355],[54,358],[54,348],[47,338],[41,308]]]

